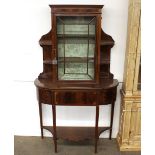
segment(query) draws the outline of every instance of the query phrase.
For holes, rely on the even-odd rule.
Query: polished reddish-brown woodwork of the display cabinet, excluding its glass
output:
[[[95,153],[97,153],[97,142],[99,135],[110,130],[109,138],[112,135],[114,116],[114,105],[118,81],[113,79],[110,73],[110,52],[114,40],[101,29],[102,5],[51,5],[52,29],[43,35],[39,41],[43,48],[43,72],[35,80],[37,87],[41,135],[43,129],[53,134],[55,152],[57,152],[57,138],[69,140],[81,140],[87,138],[95,139]],[[57,16],[95,16],[96,17],[96,48],[95,48],[95,79],[94,80],[58,80],[58,65],[56,61],[57,37],[56,17]],[[67,60],[69,58],[66,58]],[[72,61],[84,61],[85,58],[72,58]],[[58,62],[59,63],[59,62]],[[41,104],[52,106],[53,127],[44,126],[42,121]],[[110,126],[98,127],[100,105],[111,104]],[[96,117],[95,127],[57,127],[56,106],[95,106]]]

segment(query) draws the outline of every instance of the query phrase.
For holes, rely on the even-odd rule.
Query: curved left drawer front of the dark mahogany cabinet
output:
[[[39,90],[39,100],[45,104],[52,104],[51,103],[51,95],[50,91],[46,89]]]

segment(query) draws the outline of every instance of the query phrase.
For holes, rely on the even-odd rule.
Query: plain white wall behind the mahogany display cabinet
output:
[[[52,4],[54,2],[56,4],[65,2],[71,4],[73,1],[55,0]],[[82,0],[74,2],[84,4]],[[13,3],[7,6],[7,10],[11,9],[5,18],[8,25],[6,31],[9,34],[6,40],[9,44],[6,43],[4,49],[11,53],[11,56],[6,54],[5,58],[10,57],[12,60],[12,64],[7,67],[9,72],[7,75],[11,75],[10,77],[13,79],[14,100],[11,100],[12,102],[9,104],[14,106],[13,128],[15,135],[40,135],[38,104],[33,81],[42,72],[42,48],[39,46],[38,40],[50,30],[49,4],[51,4],[51,0],[18,0],[16,5]],[[102,28],[115,40],[115,46],[111,52],[111,72],[121,82],[126,45],[128,0],[87,0],[85,4],[104,4]],[[3,9],[2,13],[6,13],[7,10]],[[4,26],[4,28],[6,27]],[[113,137],[116,137],[119,126],[120,86],[115,106]],[[100,112],[99,124],[109,125],[109,106],[102,106]],[[50,106],[43,106],[43,115],[44,124],[52,124]],[[93,126],[94,123],[94,107],[57,107],[57,125]],[[46,131],[45,134],[50,135]],[[102,137],[107,136],[108,132],[102,134]]]

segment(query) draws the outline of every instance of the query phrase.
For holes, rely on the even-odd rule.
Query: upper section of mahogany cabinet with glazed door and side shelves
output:
[[[103,5],[50,5],[51,31],[39,41],[43,47],[40,79],[53,82],[99,84],[112,80],[111,36],[101,28]]]

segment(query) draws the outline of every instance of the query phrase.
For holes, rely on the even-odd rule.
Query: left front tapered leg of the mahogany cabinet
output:
[[[52,105],[52,111],[53,111],[53,139],[54,139],[55,153],[57,153],[56,106],[55,105]]]

